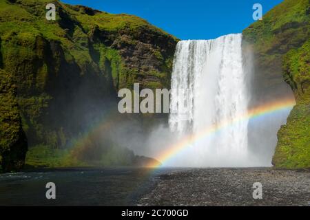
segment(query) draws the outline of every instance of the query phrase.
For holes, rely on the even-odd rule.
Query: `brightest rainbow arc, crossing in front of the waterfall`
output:
[[[198,133],[194,133],[191,135],[186,135],[181,140],[173,144],[172,146],[169,146],[165,151],[163,151],[160,155],[156,156],[156,159],[158,159],[161,164],[165,164],[169,159],[172,159],[178,153],[181,151],[184,151],[189,146],[192,146],[195,142],[198,142],[202,140],[203,138],[208,137],[209,135],[212,135],[218,131],[221,131],[222,129],[225,129],[229,126],[233,126],[234,124],[238,122],[242,122],[244,120],[251,120],[254,118],[260,118],[265,115],[276,113],[278,111],[283,110],[289,110],[292,107],[294,107],[296,104],[295,100],[291,98],[283,99],[283,100],[277,100],[276,102],[268,102],[266,104],[262,104],[258,107],[254,107],[253,109],[250,109],[247,111],[247,113],[244,113],[242,115],[239,115],[234,120],[229,121],[223,121],[219,124],[214,124],[212,126],[209,126],[203,130],[201,130]],[[148,164],[148,167],[151,168],[158,168],[162,165],[158,164]]]

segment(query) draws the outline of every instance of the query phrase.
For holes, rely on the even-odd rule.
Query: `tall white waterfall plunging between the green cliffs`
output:
[[[174,166],[248,166],[247,80],[242,34],[180,41],[172,72],[169,128],[177,138],[202,133]],[[234,123],[232,123],[234,122]],[[223,126],[225,124],[225,126]],[[223,127],[222,127],[223,126]],[[218,128],[214,130],[209,128]]]

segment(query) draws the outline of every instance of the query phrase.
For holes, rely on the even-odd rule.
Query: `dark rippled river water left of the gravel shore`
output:
[[[58,169],[0,175],[0,206],[130,206],[165,170],[148,168]],[[56,184],[56,199],[45,185]]]

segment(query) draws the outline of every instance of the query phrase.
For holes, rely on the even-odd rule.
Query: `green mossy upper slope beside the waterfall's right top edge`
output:
[[[243,31],[258,53],[283,54],[309,38],[309,1],[285,0]]]

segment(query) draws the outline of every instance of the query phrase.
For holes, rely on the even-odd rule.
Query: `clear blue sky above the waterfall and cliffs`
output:
[[[179,39],[214,39],[240,33],[254,22],[252,6],[263,14],[282,0],[61,0],[114,14],[142,17]]]

